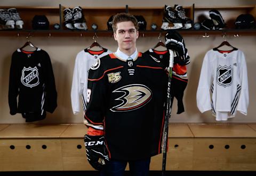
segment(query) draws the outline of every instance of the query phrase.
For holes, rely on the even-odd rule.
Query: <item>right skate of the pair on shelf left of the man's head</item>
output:
[[[86,21],[85,21],[85,18],[84,18],[84,14],[82,12],[82,8],[81,7],[75,7],[73,9],[72,13],[73,13],[74,27],[76,29],[87,30],[88,27],[86,25]]]

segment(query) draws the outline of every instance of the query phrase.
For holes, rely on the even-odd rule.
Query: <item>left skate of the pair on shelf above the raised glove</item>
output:
[[[182,21],[175,16],[175,10],[171,6],[164,6],[164,18],[161,29],[180,29],[182,28]]]

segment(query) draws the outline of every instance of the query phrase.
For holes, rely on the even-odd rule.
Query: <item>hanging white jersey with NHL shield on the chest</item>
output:
[[[205,54],[196,100],[199,111],[203,113],[212,110],[217,121],[233,118],[236,111],[247,115],[249,90],[242,51],[211,49]]]

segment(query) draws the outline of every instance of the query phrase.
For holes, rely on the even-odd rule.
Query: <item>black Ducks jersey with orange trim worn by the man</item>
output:
[[[141,160],[161,153],[165,66],[147,54],[134,61],[104,56],[89,71],[85,124],[104,130],[110,158]]]

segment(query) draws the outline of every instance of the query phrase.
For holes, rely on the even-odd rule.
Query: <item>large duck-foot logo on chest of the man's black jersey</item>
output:
[[[127,85],[118,88],[113,93],[124,93],[115,100],[121,100],[122,103],[110,108],[113,112],[133,111],[146,105],[152,98],[152,91],[145,85]]]

